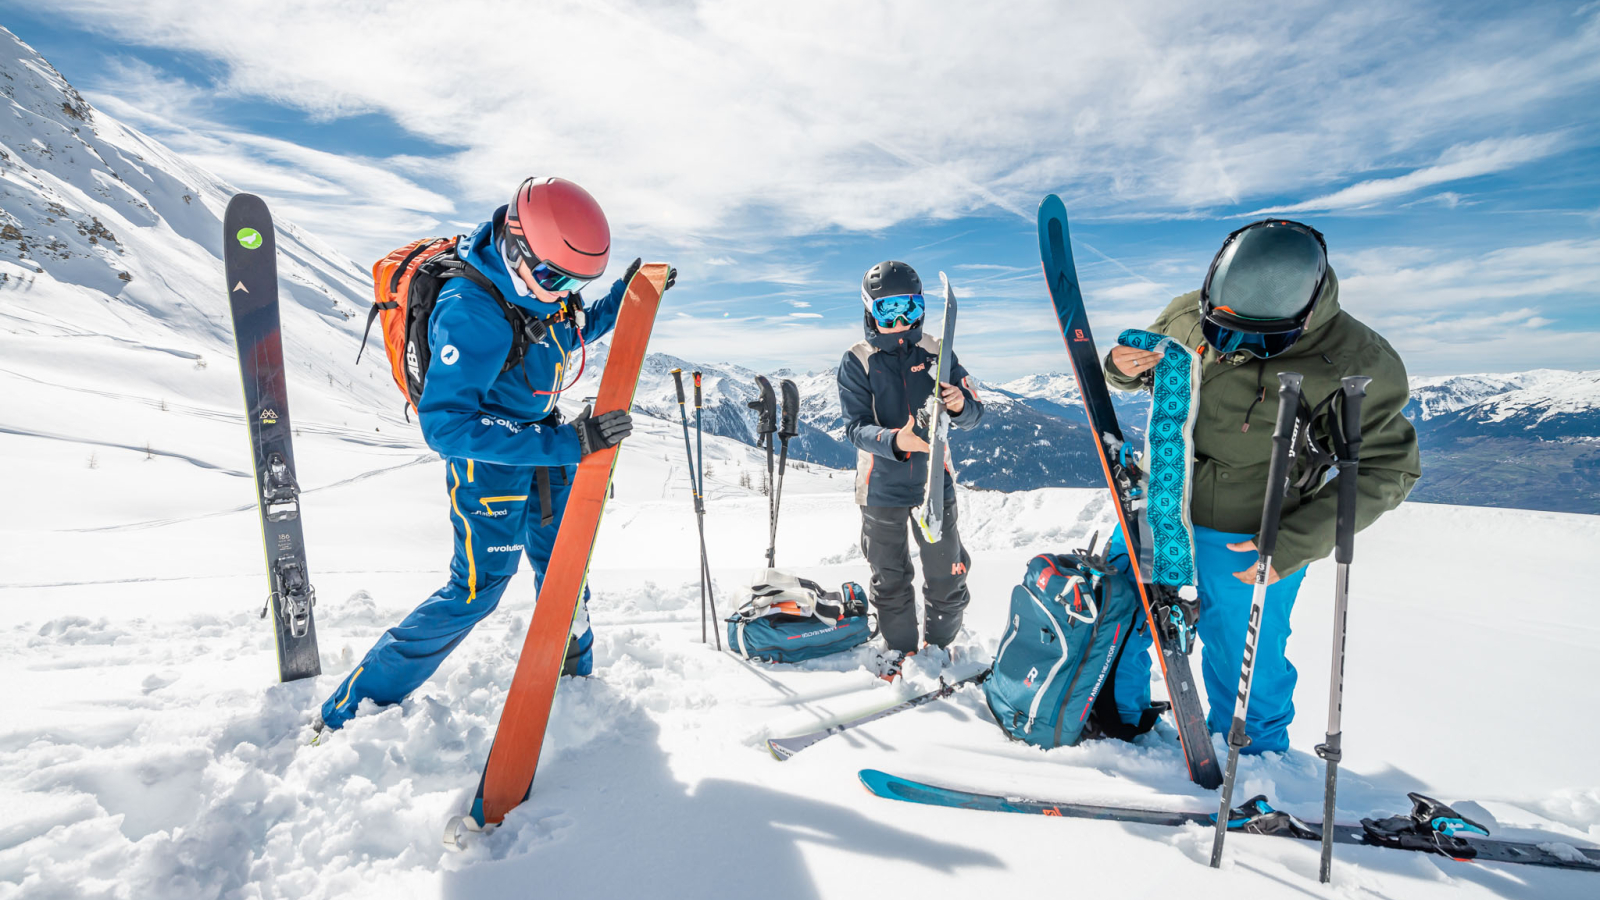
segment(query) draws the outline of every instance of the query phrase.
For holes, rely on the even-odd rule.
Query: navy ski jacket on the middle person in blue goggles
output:
[[[928,484],[928,455],[902,453],[894,432],[914,418],[933,394],[933,370],[939,367],[939,341],[922,327],[882,335],[866,325],[867,340],[845,351],[838,364],[838,408],[845,436],[856,445],[856,503],[861,506],[920,506]],[[950,351],[950,373],[966,397],[954,428],[976,428],[984,404],[962,364]],[[925,428],[917,434],[928,437]],[[949,469],[949,458],[944,460]],[[955,500],[955,484],[944,479],[944,500]]]

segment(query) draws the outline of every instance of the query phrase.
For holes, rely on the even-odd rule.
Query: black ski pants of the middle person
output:
[[[928,543],[914,519],[912,506],[862,506],[861,552],[872,567],[872,605],[878,612],[878,633],[890,650],[914,653],[917,639],[915,572],[910,564],[907,532],[922,554],[923,639],[947,647],[962,631],[962,615],[971,594],[966,569],[973,559],[955,530],[955,500],[944,504],[944,532]]]

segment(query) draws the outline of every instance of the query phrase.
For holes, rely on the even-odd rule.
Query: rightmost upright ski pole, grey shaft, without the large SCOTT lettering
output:
[[[1344,620],[1350,601],[1350,559],[1355,556],[1355,479],[1362,461],[1362,400],[1371,378],[1352,375],[1339,381],[1342,391],[1339,418],[1339,511],[1334,519],[1333,560],[1338,564],[1333,583],[1333,671],[1328,674],[1328,738],[1317,745],[1317,756],[1328,764],[1328,783],[1322,794],[1322,870],[1318,881],[1328,884],[1333,873],[1333,807],[1339,778],[1341,724],[1344,714]]]

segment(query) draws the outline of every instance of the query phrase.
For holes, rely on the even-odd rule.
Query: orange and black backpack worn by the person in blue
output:
[[[432,359],[427,346],[429,319],[446,280],[470,280],[490,291],[506,314],[512,330],[512,346],[501,372],[520,364],[528,354],[528,344],[542,340],[542,322],[507,303],[488,275],[462,259],[456,251],[459,240],[459,237],[424,237],[373,263],[374,298],[373,309],[366,314],[366,331],[362,333],[362,351],[366,349],[366,340],[373,333],[373,322],[381,320],[384,351],[389,354],[395,384],[413,410],[422,399],[422,380],[427,378],[427,364]],[[362,362],[362,352],[355,354],[355,362]]]

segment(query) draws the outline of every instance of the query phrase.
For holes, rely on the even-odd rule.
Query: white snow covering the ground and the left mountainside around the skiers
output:
[[[896,695],[874,677],[870,647],[768,666],[701,644],[675,400],[661,405],[666,420],[638,416],[621,453],[590,573],[595,676],[562,685],[531,799],[446,854],[440,833],[493,740],[531,580],[514,580],[502,609],[410,700],[363,708],[322,746],[307,743],[312,709],[443,581],[450,556],[442,466],[403,420],[382,354],[354,364],[362,267],[278,223],[325,674],[274,684],[214,250],[232,189],[90,109],[29,48],[0,38],[11,114],[0,115],[0,194],[34,248],[0,242],[0,900],[1600,892],[1589,873],[1360,847],[1339,849],[1334,886],[1322,889],[1309,844],[1234,836],[1210,871],[1206,830],[918,809],[856,786],[856,770],[878,767],[1083,802],[1214,802],[1184,778],[1165,722],[1136,745],[1045,753],[1006,740],[978,689],[773,761],[766,737]],[[115,237],[90,240],[91,221]],[[50,234],[66,250],[40,251]],[[592,348],[571,397],[594,392],[603,357]],[[1016,388],[1066,396],[1059,378]],[[707,380],[707,396],[746,384]],[[802,384],[808,408],[835,402],[826,375]],[[765,455],[720,437],[706,453],[726,615],[766,546],[766,501],[739,487],[742,476],[762,484]],[[787,472],[784,567],[826,585],[869,581],[851,482],[822,466]],[[973,605],[957,650],[981,663],[1027,559],[1104,541],[1112,516],[1088,490],[962,488],[960,501]],[[1600,668],[1581,567],[1597,551],[1597,517],[1429,504],[1358,538],[1341,818],[1398,812],[1405,791],[1422,790],[1466,801],[1458,809],[1499,836],[1539,828],[1600,842],[1600,724],[1579,713]],[[1246,757],[1237,788],[1306,818],[1322,806],[1310,746],[1322,740],[1331,585],[1331,564],[1315,564],[1294,612],[1294,749]],[[914,658],[907,689],[928,690],[938,674],[931,657]]]

